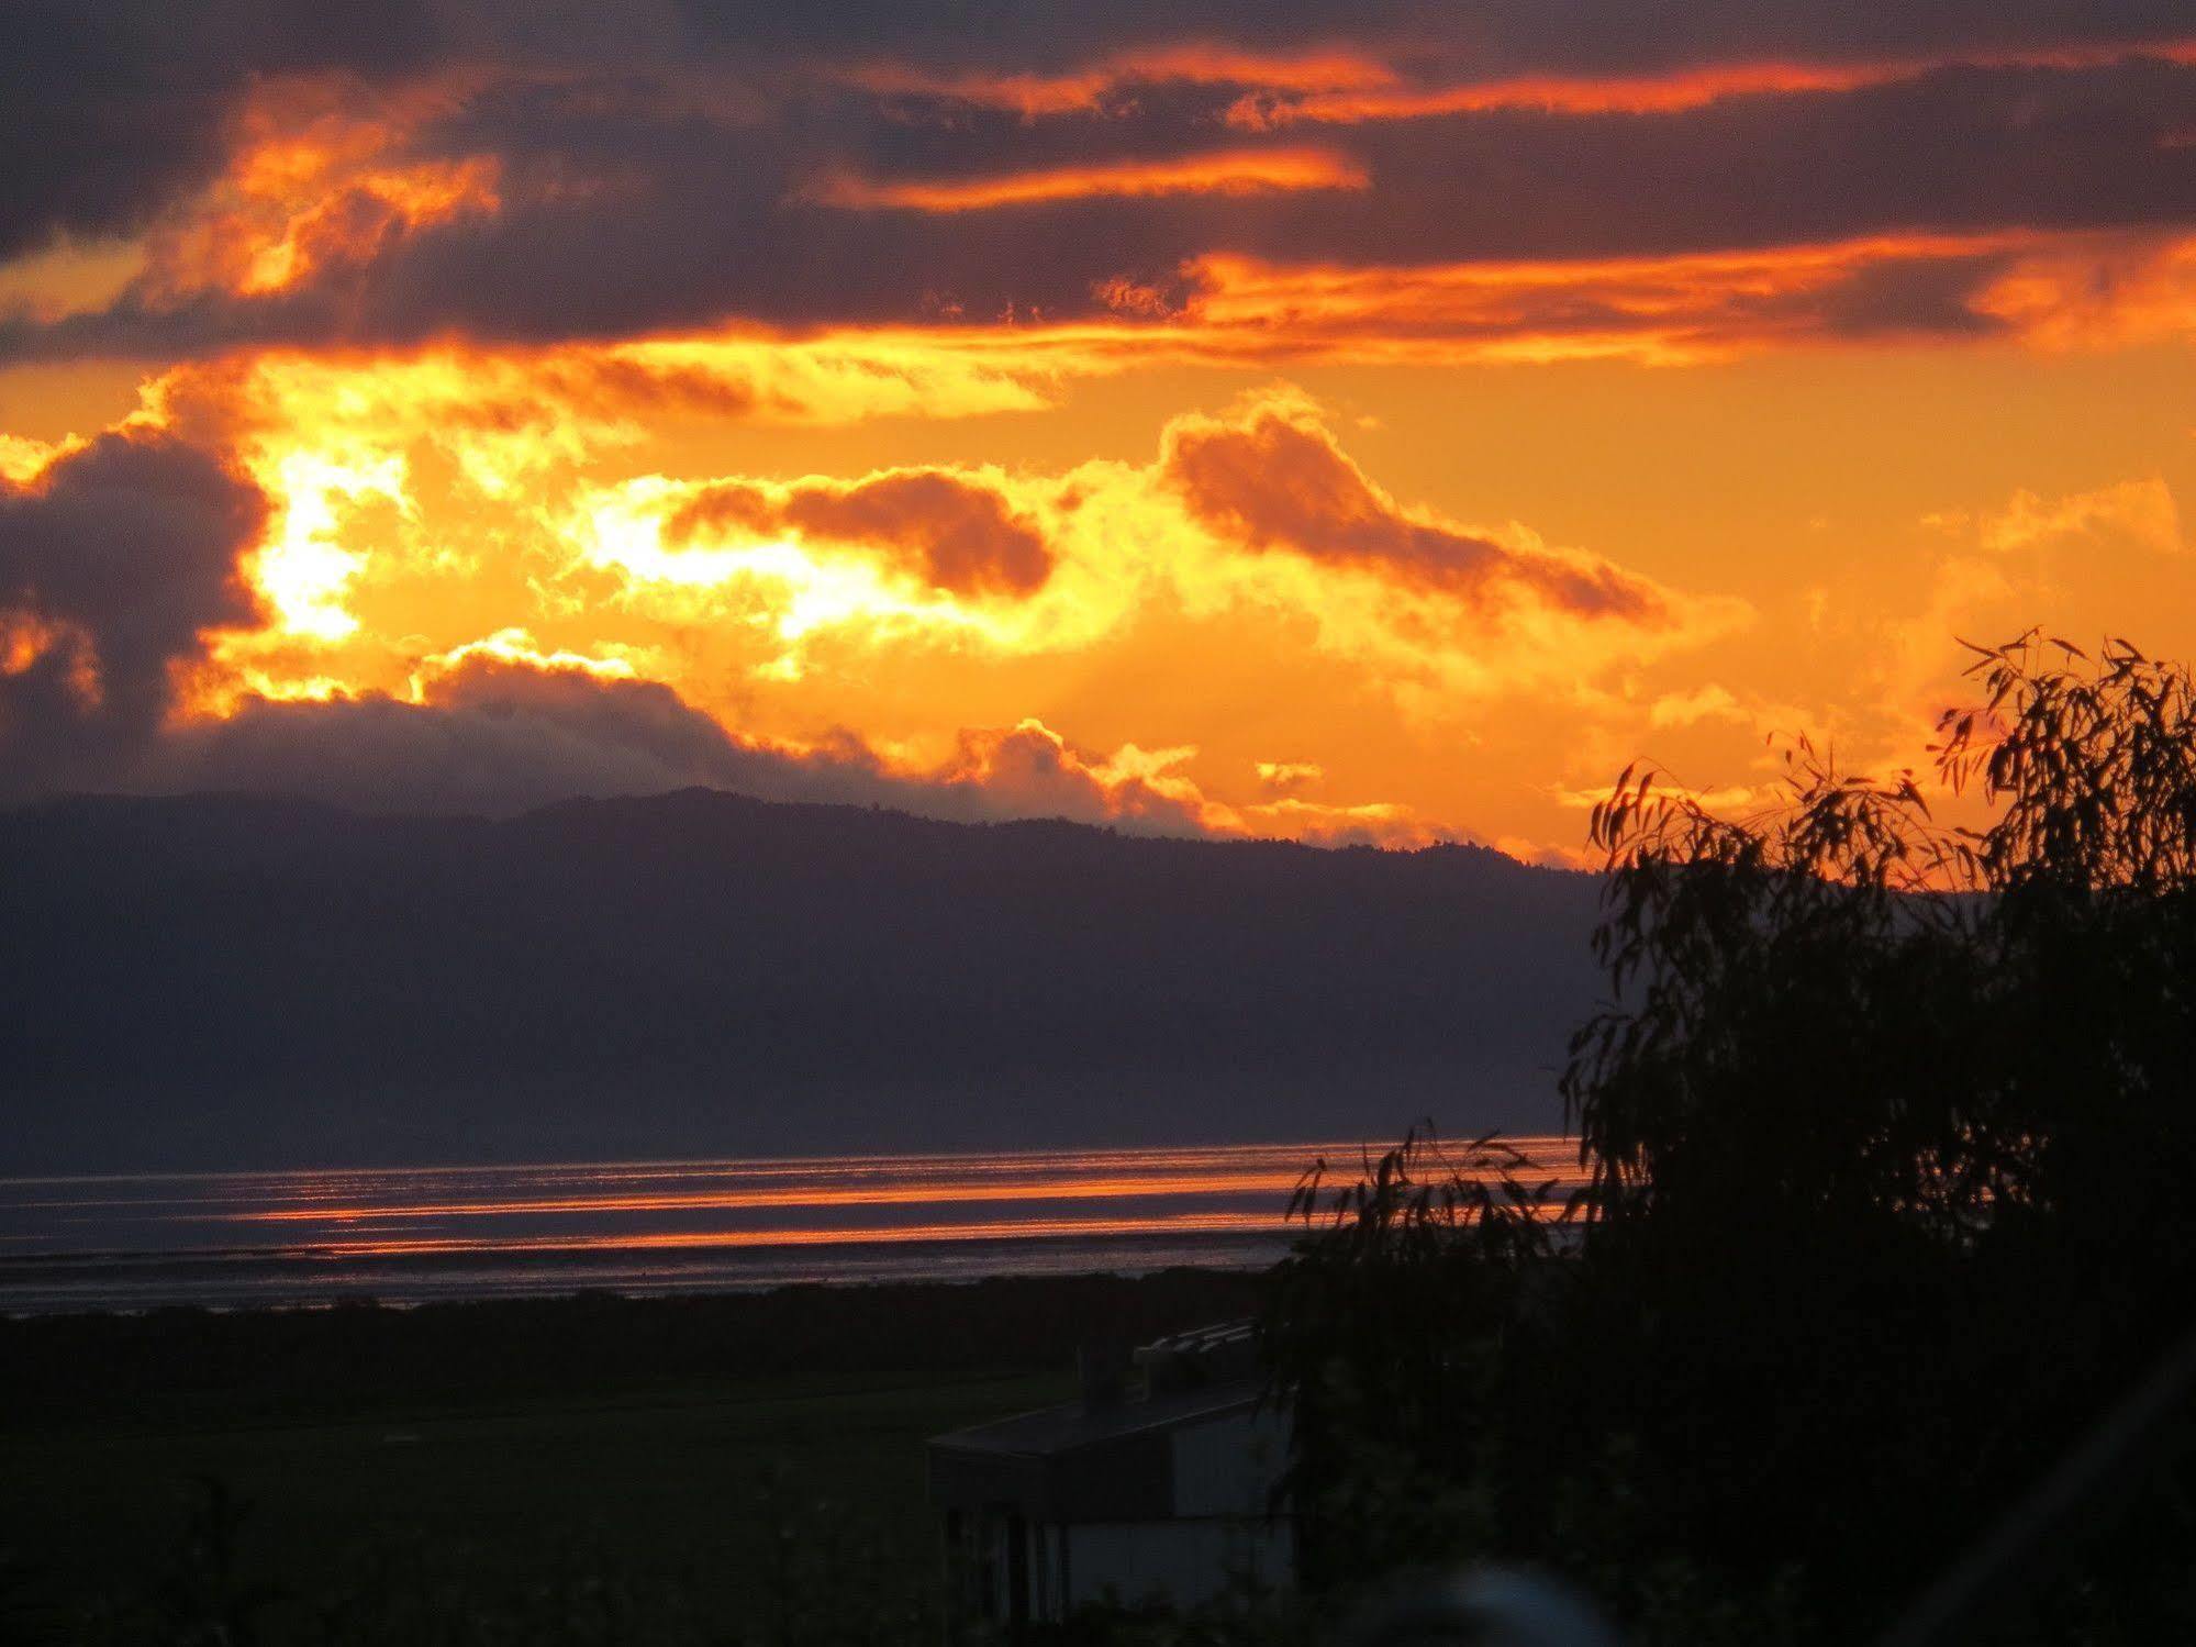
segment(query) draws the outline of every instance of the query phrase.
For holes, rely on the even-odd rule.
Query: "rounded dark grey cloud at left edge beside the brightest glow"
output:
[[[35,485],[0,483],[0,624],[26,654],[0,674],[0,791],[154,733],[202,632],[257,621],[237,556],[264,520],[255,485],[163,437],[101,435]]]

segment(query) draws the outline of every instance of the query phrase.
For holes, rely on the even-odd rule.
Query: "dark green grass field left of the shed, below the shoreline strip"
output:
[[[163,1636],[193,1610],[235,1610],[268,1640],[468,1638],[466,1618],[527,1638],[922,1636],[922,1441],[1067,1383],[839,1375],[68,1425],[0,1441],[0,1546],[26,1579],[18,1629],[59,1638]],[[242,1515],[209,1511],[206,1482]]]

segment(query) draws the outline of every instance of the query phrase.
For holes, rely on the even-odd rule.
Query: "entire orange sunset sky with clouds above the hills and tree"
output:
[[[0,799],[1566,859],[2196,654],[2187,0],[11,11]]]

